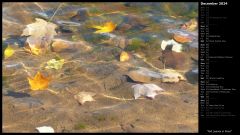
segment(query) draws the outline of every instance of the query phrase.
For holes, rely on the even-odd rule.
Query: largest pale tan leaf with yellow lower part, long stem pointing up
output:
[[[29,36],[26,40],[25,50],[32,54],[39,55],[48,48],[55,35],[57,25],[36,18],[36,22],[28,24],[23,30],[22,36]]]

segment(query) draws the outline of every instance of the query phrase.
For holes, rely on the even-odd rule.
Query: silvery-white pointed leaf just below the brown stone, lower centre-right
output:
[[[132,86],[134,90],[134,98],[138,99],[141,96],[154,99],[158,92],[164,91],[162,88],[155,84],[136,84]]]

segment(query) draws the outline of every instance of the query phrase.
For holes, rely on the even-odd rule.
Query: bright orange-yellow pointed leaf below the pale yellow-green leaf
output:
[[[50,77],[44,77],[38,72],[34,78],[28,77],[29,85],[31,90],[45,90],[50,82]]]

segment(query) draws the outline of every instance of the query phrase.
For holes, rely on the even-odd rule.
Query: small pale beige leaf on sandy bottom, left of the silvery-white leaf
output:
[[[74,96],[74,98],[83,105],[87,101],[95,101],[93,99],[93,96],[95,96],[96,93],[93,92],[79,92],[77,95]]]

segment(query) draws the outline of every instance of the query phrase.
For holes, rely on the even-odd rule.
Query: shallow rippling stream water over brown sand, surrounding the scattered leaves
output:
[[[56,132],[197,132],[198,131],[198,32],[181,26],[197,19],[197,3],[3,3],[3,131],[36,132],[52,126]],[[59,52],[32,55],[23,50],[26,25],[42,18],[56,24],[55,39],[70,45]],[[96,34],[91,25],[112,21],[111,33]],[[13,27],[14,26],[14,27]],[[174,34],[188,36],[180,53],[161,49]],[[59,48],[58,48],[59,49]],[[122,51],[130,60],[119,61]],[[140,57],[141,56],[141,57]],[[59,70],[43,68],[55,57],[65,60]],[[164,62],[165,61],[165,62]],[[155,99],[133,100],[127,74],[144,67],[157,72],[173,69],[185,81],[163,83],[166,90]],[[27,77],[38,71],[53,78],[49,89],[32,91]],[[154,77],[154,75],[153,75]],[[80,105],[74,95],[97,93],[93,102]],[[108,95],[108,96],[103,96]],[[131,99],[131,100],[124,100]]]

